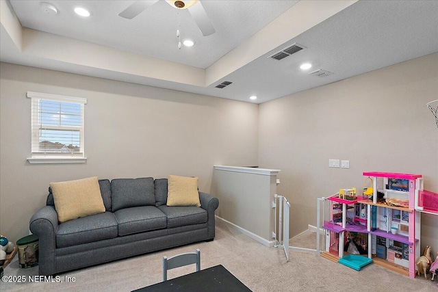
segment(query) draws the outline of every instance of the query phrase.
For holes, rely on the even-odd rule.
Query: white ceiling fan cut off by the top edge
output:
[[[120,12],[118,15],[124,18],[132,19],[138,14],[142,13],[146,8],[155,4],[158,0],[152,1],[135,1],[132,3],[127,9]],[[196,25],[198,25],[199,29],[203,36],[209,36],[214,34],[216,30],[209,17],[207,16],[207,12],[205,12],[201,1],[192,0],[192,1],[183,1],[183,0],[166,0],[172,7],[177,9],[187,9],[190,14],[192,14]]]

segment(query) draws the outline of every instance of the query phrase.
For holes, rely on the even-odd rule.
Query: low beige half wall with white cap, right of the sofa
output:
[[[278,170],[215,166],[211,194],[219,199],[216,216],[264,245],[274,245],[274,202]]]

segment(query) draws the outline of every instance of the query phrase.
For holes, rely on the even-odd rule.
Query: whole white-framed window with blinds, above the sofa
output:
[[[83,163],[86,98],[27,92],[31,98],[29,163]]]

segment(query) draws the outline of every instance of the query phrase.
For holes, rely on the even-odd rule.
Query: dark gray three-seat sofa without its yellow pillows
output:
[[[47,205],[30,220],[39,237],[39,273],[63,271],[214,239],[217,198],[199,192],[201,207],[168,207],[167,179],[99,180],[105,213],[59,223]]]

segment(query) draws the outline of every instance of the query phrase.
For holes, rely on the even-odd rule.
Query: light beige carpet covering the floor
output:
[[[292,239],[291,245],[315,248],[315,233],[306,232]],[[437,282],[411,279],[377,265],[355,271],[322,258],[317,253],[291,250],[290,261],[280,248],[267,248],[229,228],[216,224],[216,238],[211,242],[185,245],[136,256],[104,265],[60,274],[75,282],[5,283],[1,291],[131,291],[162,280],[162,256],[201,250],[201,269],[223,265],[252,291],[438,291]],[[169,271],[175,278],[194,271],[194,266]],[[6,276],[38,274],[38,267],[21,269],[18,256],[5,269]]]

